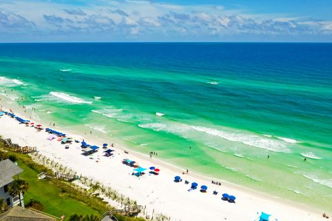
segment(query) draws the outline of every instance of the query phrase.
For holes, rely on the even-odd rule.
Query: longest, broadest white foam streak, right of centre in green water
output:
[[[258,148],[264,148],[269,151],[275,152],[290,152],[286,147],[286,144],[279,142],[277,140],[264,138],[259,135],[254,134],[244,134],[244,133],[229,133],[225,131],[219,131],[214,128],[205,128],[203,126],[192,126],[194,130],[208,133],[209,135],[221,137],[225,140],[230,140],[232,142],[241,142],[249,146],[255,146]]]

